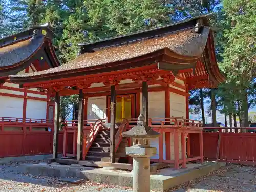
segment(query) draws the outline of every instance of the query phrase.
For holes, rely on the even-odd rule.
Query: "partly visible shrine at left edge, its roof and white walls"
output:
[[[0,122],[22,119],[53,119],[53,106],[47,92],[22,89],[8,76],[26,74],[59,66],[52,45],[54,33],[47,25],[0,39]]]

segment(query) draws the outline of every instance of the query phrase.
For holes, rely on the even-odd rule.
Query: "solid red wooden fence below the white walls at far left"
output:
[[[0,117],[0,157],[52,153],[53,122],[46,119]],[[59,143],[63,133],[59,133]],[[58,145],[62,151],[62,143]]]

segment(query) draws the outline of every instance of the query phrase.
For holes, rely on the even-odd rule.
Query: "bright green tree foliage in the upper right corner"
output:
[[[226,23],[222,69],[229,80],[247,86],[256,74],[256,1],[224,0]]]

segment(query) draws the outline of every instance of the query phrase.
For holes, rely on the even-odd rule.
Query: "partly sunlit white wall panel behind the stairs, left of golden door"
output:
[[[106,118],[106,96],[89,97],[87,103],[87,119]]]

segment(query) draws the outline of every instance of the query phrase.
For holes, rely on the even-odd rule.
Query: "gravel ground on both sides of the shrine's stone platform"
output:
[[[31,162],[26,162],[31,163]],[[17,163],[0,165],[0,192],[124,192],[130,188],[84,182],[79,185],[59,182],[58,178],[36,177],[17,173]],[[228,165],[168,192],[256,192],[256,167]]]

